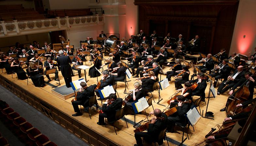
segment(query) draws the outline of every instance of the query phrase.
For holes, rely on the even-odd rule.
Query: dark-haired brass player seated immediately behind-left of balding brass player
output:
[[[229,65],[227,64],[228,62],[229,62],[229,60],[224,59],[222,61],[221,67],[218,65],[215,66],[215,68],[217,69],[216,70],[217,72],[210,74],[210,76],[214,77],[216,80],[216,82],[214,81],[214,85],[213,85],[214,87],[216,87],[218,79],[224,78],[224,81],[227,80],[227,77],[231,72],[231,69],[230,69]]]

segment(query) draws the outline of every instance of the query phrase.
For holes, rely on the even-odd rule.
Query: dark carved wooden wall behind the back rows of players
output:
[[[139,30],[190,41],[198,34],[200,52],[213,55],[229,51],[238,8],[237,0],[135,0],[139,6]]]

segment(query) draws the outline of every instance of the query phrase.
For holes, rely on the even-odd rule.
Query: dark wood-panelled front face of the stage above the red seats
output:
[[[51,106],[50,104],[40,100],[35,95],[29,93],[22,87],[7,80],[4,76],[0,75],[0,84],[19,98],[33,106],[35,109],[52,119],[54,122],[70,131],[72,134],[82,139],[86,143],[92,146],[118,146],[109,139],[106,139],[99,135],[97,132],[91,130],[85,125],[82,125],[78,121],[72,119],[70,116]],[[51,98],[51,97],[49,97]]]

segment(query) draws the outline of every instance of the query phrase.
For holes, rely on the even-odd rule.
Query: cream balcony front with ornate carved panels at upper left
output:
[[[80,17],[56,17],[53,19],[40,19],[40,20],[25,20],[10,22],[0,21],[0,37],[11,36],[16,34],[26,34],[35,30],[37,33],[46,31],[56,31],[70,29],[70,27],[81,25],[97,25],[104,23],[104,14],[93,16],[80,16]],[[33,32],[35,33],[35,32]]]

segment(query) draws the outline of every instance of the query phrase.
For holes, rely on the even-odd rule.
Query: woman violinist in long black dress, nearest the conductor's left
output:
[[[45,86],[44,78],[43,75],[40,74],[40,70],[42,69],[39,69],[35,62],[29,63],[27,73],[29,73],[31,80],[36,87]]]

